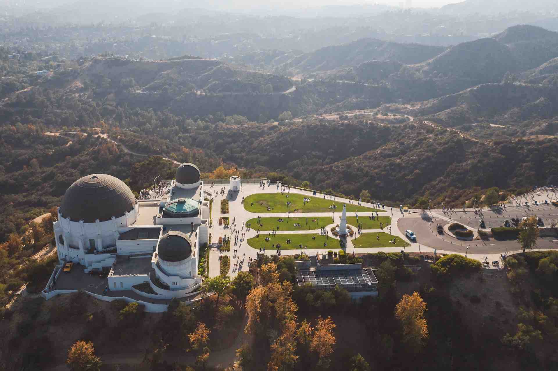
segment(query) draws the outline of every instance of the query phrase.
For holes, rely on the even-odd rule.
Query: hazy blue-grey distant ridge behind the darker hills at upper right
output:
[[[445,49],[445,47],[439,46],[362,38],[354,42],[324,47],[302,54],[288,61],[283,68],[294,71],[295,74],[306,74],[353,67],[372,60],[416,64],[438,55]]]

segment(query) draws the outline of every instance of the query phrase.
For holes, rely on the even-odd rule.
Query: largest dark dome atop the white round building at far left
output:
[[[107,174],[91,174],[76,180],[62,199],[60,213],[73,222],[108,221],[122,217],[136,205],[136,197],[122,180]]]

